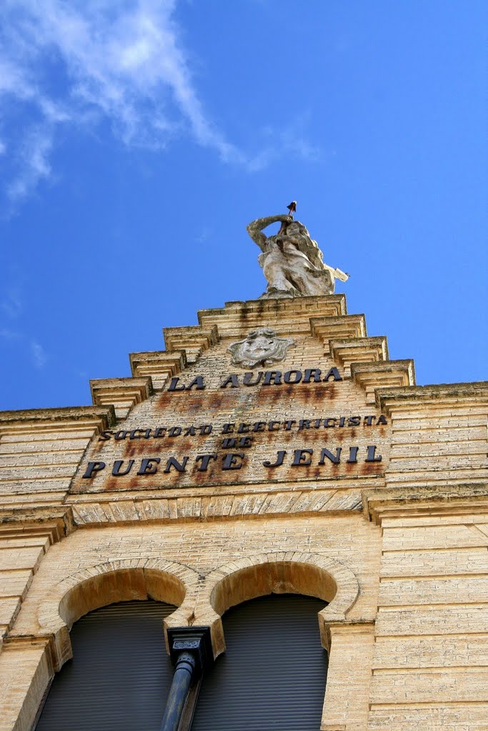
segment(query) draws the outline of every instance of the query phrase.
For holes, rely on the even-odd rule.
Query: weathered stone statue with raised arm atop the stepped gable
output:
[[[266,236],[263,229],[277,221],[281,222],[279,232]],[[318,243],[310,238],[304,224],[293,221],[293,216],[256,219],[247,232],[263,252],[258,262],[268,280],[268,288],[261,295],[264,298],[332,295],[336,279],[349,279],[345,272],[323,263]]]

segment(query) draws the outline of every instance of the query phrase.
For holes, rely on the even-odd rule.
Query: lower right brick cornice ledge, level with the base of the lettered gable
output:
[[[454,507],[488,512],[488,484],[476,482],[439,488],[372,488],[361,491],[365,517],[376,525],[383,518],[442,515]]]

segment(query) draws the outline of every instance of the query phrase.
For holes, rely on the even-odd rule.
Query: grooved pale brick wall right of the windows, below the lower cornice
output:
[[[487,728],[488,513],[469,503],[382,520],[372,729]]]

